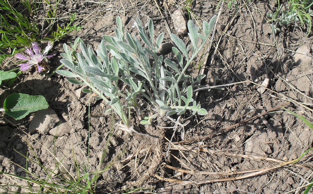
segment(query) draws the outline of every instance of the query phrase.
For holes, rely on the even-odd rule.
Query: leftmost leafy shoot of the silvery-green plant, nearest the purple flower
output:
[[[82,53],[75,51],[79,44]],[[66,44],[63,45],[64,53],[61,54],[64,59],[61,63],[70,69],[57,70],[57,73],[68,77],[72,84],[87,85],[90,90],[84,89],[83,92],[97,93],[112,109],[121,117],[124,122],[125,130],[132,130],[128,117],[126,116],[122,104],[119,100],[121,91],[117,88],[119,80],[119,67],[117,60],[109,58],[104,41],[101,42],[97,54],[89,47],[87,48],[80,38],[77,38],[69,50]],[[78,80],[79,78],[80,80]]]

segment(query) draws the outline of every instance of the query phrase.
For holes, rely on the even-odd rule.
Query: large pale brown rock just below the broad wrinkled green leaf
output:
[[[28,133],[47,134],[59,121],[59,117],[54,110],[38,110],[29,124]]]

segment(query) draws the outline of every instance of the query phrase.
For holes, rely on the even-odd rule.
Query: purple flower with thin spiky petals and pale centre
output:
[[[33,65],[37,65],[37,70],[40,73],[42,70],[44,70],[44,64],[43,60],[44,58],[51,58],[54,55],[47,55],[48,51],[52,48],[52,44],[48,43],[48,46],[44,49],[44,52],[40,52],[40,48],[37,44],[37,42],[32,42],[32,48],[26,49],[26,53],[28,54],[28,57],[23,56],[21,54],[16,54],[15,57],[18,59],[26,60],[27,63],[22,63],[18,66],[20,66],[20,70],[26,71],[29,68],[31,68]]]

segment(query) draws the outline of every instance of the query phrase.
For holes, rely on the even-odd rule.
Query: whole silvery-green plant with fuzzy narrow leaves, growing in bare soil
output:
[[[176,62],[163,60],[162,55],[157,55],[164,35],[162,33],[154,38],[152,20],[149,21],[147,34],[137,18],[136,27],[143,42],[142,46],[136,36],[124,32],[121,18],[117,17],[115,36],[103,36],[97,49],[100,59],[81,40],[77,40],[82,54],[76,53],[74,49],[69,50],[64,44],[65,53],[62,56],[65,59],[61,60],[61,63],[72,72],[65,70],[57,72],[69,77],[71,83],[89,85],[92,91],[105,99],[119,114],[127,128],[131,126],[120,98],[125,98],[128,107],[133,106],[136,110],[140,109],[139,100],[152,105],[154,112],[150,117],[145,117],[146,120],[141,121],[141,124],[149,124],[151,119],[156,117],[184,114],[186,110],[192,111],[193,114],[205,115],[207,111],[192,98],[193,89],[205,75],[192,78],[186,71],[198,52],[203,49],[215,21],[214,16],[209,23],[203,22],[203,34],[199,33],[199,28],[191,20],[188,21],[188,36],[191,41],[191,45],[188,46],[178,36],[170,35],[176,45],[172,47]],[[198,46],[200,40],[202,43]],[[76,60],[73,60],[73,56]],[[83,82],[73,78],[80,78]],[[126,84],[126,90],[118,88],[118,82]]]

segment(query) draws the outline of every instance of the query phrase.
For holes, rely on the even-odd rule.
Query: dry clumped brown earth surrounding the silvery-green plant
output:
[[[151,18],[155,34],[163,32],[170,45],[166,26],[177,33],[172,14],[183,1],[174,2],[64,2],[60,10],[76,12],[83,27],[64,42],[81,37],[95,50],[102,35],[114,34],[115,18],[120,16],[125,29],[135,35],[136,17],[146,27]],[[302,193],[313,173],[311,155],[296,164],[292,160],[313,146],[312,130],[280,107],[312,121],[312,113],[303,106],[312,105],[311,35],[290,27],[274,36],[266,14],[275,10],[275,1],[237,6],[239,12],[226,4],[220,8],[215,1],[191,5],[190,16],[200,26],[202,20],[220,13],[211,50],[203,51],[189,70],[191,75],[204,70],[203,85],[225,85],[198,92],[197,100],[208,115],[174,117],[182,124],[175,133],[173,124],[157,121],[143,126],[133,118],[135,129],[148,134],[140,138],[117,129],[119,118],[104,114],[109,107],[95,95],[82,93],[80,86],[58,74],[47,78],[31,71],[11,90],[0,89],[1,104],[10,93],[21,92],[43,95],[50,108],[18,121],[1,115],[2,172],[26,177],[23,167],[44,177],[45,167],[77,177],[78,169],[82,174],[98,171],[99,193],[131,188],[155,193]],[[189,17],[186,9],[178,10]],[[186,33],[178,35],[188,42]],[[54,43],[50,72],[60,65],[64,42]],[[208,41],[206,49],[209,45]],[[170,47],[162,52],[173,57]],[[0,182],[25,185],[4,175]]]

